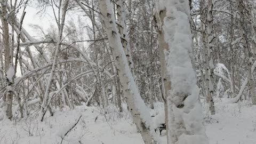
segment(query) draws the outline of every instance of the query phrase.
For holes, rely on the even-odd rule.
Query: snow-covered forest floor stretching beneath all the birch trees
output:
[[[218,101],[215,103],[217,114],[211,117],[206,115],[206,111],[204,114],[210,144],[255,144],[256,107],[246,102],[227,103],[225,99],[215,101]],[[0,143],[61,143],[63,135],[81,115],[74,129],[63,138],[63,144],[143,143],[127,110],[118,113],[116,107],[109,107],[106,111],[103,113],[98,107],[79,106],[74,110],[56,111],[53,117],[46,116],[44,122],[38,122],[35,111],[26,118],[10,122],[3,118],[3,110],[0,109]],[[155,115],[154,127],[164,121],[163,114],[163,105],[156,103],[155,109],[151,110],[151,115]],[[166,143],[164,131],[159,137]]]

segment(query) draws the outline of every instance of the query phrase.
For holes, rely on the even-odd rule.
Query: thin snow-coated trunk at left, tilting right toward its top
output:
[[[65,18],[66,18],[66,12],[67,12],[67,8],[68,8],[68,2],[69,2],[69,0],[66,0],[63,4],[62,18],[61,18],[61,24],[60,24],[60,29],[59,29],[57,47],[55,49],[55,54],[54,54],[54,58],[53,58],[53,62],[52,62],[52,69],[51,69],[50,76],[49,76],[47,84],[46,84],[46,90],[45,90],[45,93],[44,93],[44,100],[43,100],[43,103],[41,105],[41,110],[40,110],[40,114],[39,114],[39,120],[41,122],[43,122],[44,115],[46,113],[47,108],[49,108],[50,101],[51,101],[51,99],[49,99],[50,85],[51,85],[52,78],[53,78],[53,73],[54,73],[55,67],[56,67],[55,63],[57,62],[58,53],[59,53],[59,50],[60,50],[60,47],[61,47],[62,33],[63,33],[64,23],[65,23]]]

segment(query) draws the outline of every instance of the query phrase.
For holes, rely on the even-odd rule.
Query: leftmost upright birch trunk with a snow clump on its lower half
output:
[[[9,25],[8,25],[8,13],[7,13],[7,0],[1,1],[1,22],[3,30],[3,44],[4,44],[4,58],[5,58],[5,75],[6,75],[6,95],[5,104],[6,111],[5,114],[7,118],[12,119],[12,100],[13,100],[13,80],[14,80],[14,69],[13,69],[13,57],[9,42]]]

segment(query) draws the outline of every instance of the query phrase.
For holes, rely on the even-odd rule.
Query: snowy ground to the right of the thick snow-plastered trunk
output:
[[[205,123],[210,144],[256,143],[256,106],[247,102],[215,104],[217,114]]]

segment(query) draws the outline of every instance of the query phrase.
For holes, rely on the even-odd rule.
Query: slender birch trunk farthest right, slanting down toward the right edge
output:
[[[245,34],[245,26],[244,26],[244,21],[245,21],[245,15],[244,15],[244,3],[243,0],[238,0],[237,1],[237,9],[239,12],[239,27],[240,27],[240,36],[241,36],[241,43],[240,47],[244,49],[244,54],[246,58],[246,69],[247,69],[247,77],[248,77],[248,85],[250,89],[250,94],[252,97],[252,104],[256,105],[256,91],[255,91],[255,85],[253,82],[253,76],[252,76],[252,58],[250,57],[250,51],[249,47],[246,42],[246,34]]]

